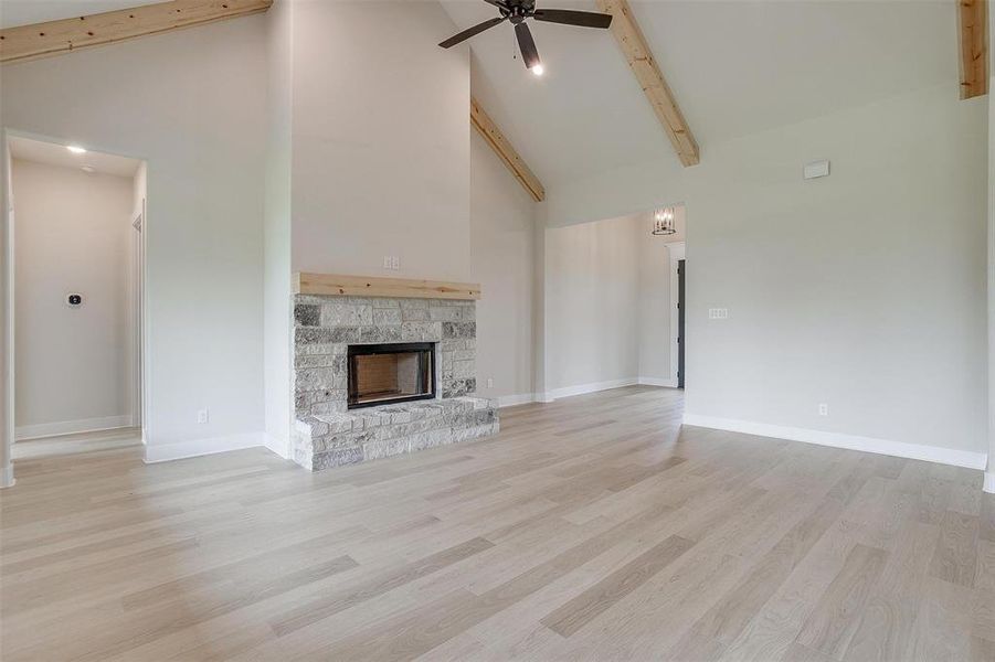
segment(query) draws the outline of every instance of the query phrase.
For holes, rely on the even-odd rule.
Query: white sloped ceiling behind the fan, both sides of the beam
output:
[[[497,15],[483,0],[442,3],[459,29]],[[957,79],[955,0],[631,4],[702,159],[709,145],[730,138]],[[539,7],[596,11],[593,0]],[[676,161],[608,31],[530,26],[541,78],[514,60],[508,24],[468,43],[474,94],[544,184]]]

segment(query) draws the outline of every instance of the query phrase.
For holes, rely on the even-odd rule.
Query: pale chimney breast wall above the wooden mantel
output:
[[[436,45],[452,20],[396,0],[294,13],[294,270],[467,280],[469,62]]]

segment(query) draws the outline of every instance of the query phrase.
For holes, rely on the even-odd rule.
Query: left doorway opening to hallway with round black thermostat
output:
[[[17,458],[140,444],[146,167],[8,135]],[[113,430],[113,433],[108,433]]]

